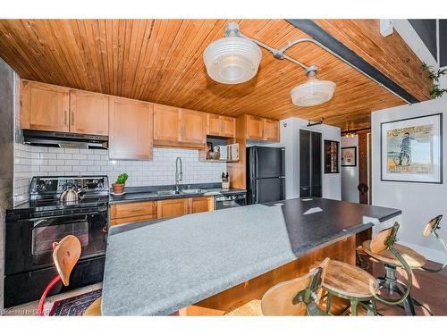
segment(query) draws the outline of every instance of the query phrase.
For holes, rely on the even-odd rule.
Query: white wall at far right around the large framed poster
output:
[[[380,123],[415,116],[443,113],[443,184],[422,184],[380,180]],[[447,221],[447,96],[415,105],[403,105],[372,113],[372,182],[373,205],[399,208],[402,211],[400,243],[415,248],[428,259],[443,262],[443,247],[434,237],[424,238],[422,231],[431,218],[444,215]],[[444,225],[440,235],[447,239]]]

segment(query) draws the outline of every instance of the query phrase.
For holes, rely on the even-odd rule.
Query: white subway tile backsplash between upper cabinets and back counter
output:
[[[174,184],[175,159],[181,156],[182,183],[219,182],[225,163],[201,162],[198,150],[154,148],[152,161],[109,160],[106,150],[31,147],[15,144],[14,202],[19,204],[29,197],[32,176],[100,175],[106,174],[113,183],[120,173],[127,173],[129,186]]]

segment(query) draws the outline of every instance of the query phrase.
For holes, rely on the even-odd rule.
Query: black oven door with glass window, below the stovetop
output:
[[[47,216],[6,222],[5,274],[53,266],[53,243],[80,239],[80,259],[105,255],[107,212]]]

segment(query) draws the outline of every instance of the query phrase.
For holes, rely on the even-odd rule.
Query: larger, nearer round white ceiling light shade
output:
[[[207,46],[203,60],[212,80],[223,84],[239,84],[256,76],[261,50],[248,38],[225,37]]]

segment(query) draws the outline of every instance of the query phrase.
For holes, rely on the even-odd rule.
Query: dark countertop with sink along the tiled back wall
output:
[[[219,194],[238,194],[238,193],[246,193],[245,189],[240,188],[222,188],[220,183],[207,183],[207,184],[184,184],[180,185],[180,189],[188,188],[200,188],[203,189],[203,193],[179,193],[175,195],[164,195],[159,196],[156,194],[157,191],[160,190],[171,190],[175,189],[173,185],[164,185],[164,186],[143,186],[143,187],[127,187],[124,189],[126,192],[122,196],[114,196],[112,193],[110,194],[109,204],[122,204],[122,203],[133,203],[139,201],[150,201],[150,200],[164,200],[164,199],[173,199],[177,197],[203,197],[203,196],[217,196]],[[111,192],[113,190],[111,189]]]

